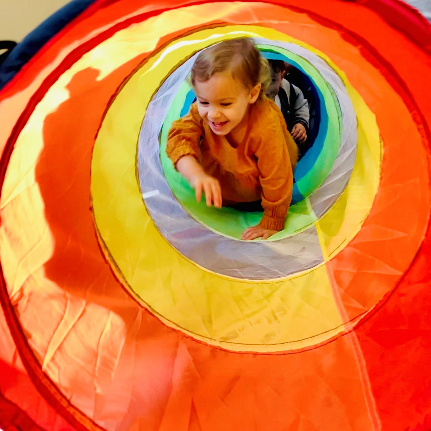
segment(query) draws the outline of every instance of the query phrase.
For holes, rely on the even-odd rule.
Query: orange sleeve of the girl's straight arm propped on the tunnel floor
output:
[[[260,225],[280,231],[292,199],[292,161],[280,125],[265,130],[255,152],[264,209]],[[296,162],[296,161],[295,161]]]

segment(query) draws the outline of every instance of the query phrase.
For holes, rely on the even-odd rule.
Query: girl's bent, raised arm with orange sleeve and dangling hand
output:
[[[196,200],[200,202],[202,192],[205,194],[206,204],[220,208],[222,206],[222,191],[219,181],[207,175],[198,162],[199,141],[203,134],[202,119],[193,103],[190,112],[183,118],[172,123],[169,129],[166,153],[175,168],[194,187]]]

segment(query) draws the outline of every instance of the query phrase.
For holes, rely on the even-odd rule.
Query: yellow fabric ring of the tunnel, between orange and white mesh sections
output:
[[[239,35],[304,46],[268,28],[227,26],[178,39],[150,58],[117,95],[97,137],[91,184],[94,216],[100,236],[125,283],[166,324],[232,350],[301,348],[322,342],[343,329],[325,267],[265,282],[231,279],[200,268],[170,247],[156,230],[145,211],[136,179],[139,128],[145,107],[163,77],[197,50]],[[325,60],[336,69],[329,59]],[[348,187],[341,198],[346,202],[344,218],[348,220],[339,223],[339,230],[344,229],[353,237],[377,191],[380,157],[372,169],[367,165],[366,176],[363,166],[380,153],[381,147],[375,120],[374,125],[369,123],[374,117],[343,74],[338,73],[358,112],[359,131],[366,125],[366,138],[370,140],[367,142],[365,134],[359,134],[358,158],[350,180],[355,186]],[[366,118],[364,113],[368,114]],[[350,210],[352,200],[354,209]],[[324,219],[339,216],[338,207],[335,211],[329,211]],[[345,244],[348,240],[339,236],[327,246],[325,231],[320,225],[319,229],[326,256],[330,256],[329,246],[333,243]]]

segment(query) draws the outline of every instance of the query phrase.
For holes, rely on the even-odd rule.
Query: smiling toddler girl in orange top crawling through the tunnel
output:
[[[262,202],[259,225],[243,240],[266,239],[284,227],[298,148],[283,115],[265,96],[268,62],[250,39],[203,50],[191,71],[197,101],[172,123],[166,152],[206,204]]]

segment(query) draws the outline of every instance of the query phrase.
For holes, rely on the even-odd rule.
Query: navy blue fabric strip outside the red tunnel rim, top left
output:
[[[0,63],[0,90],[53,36],[96,0],[73,0],[29,33]]]

